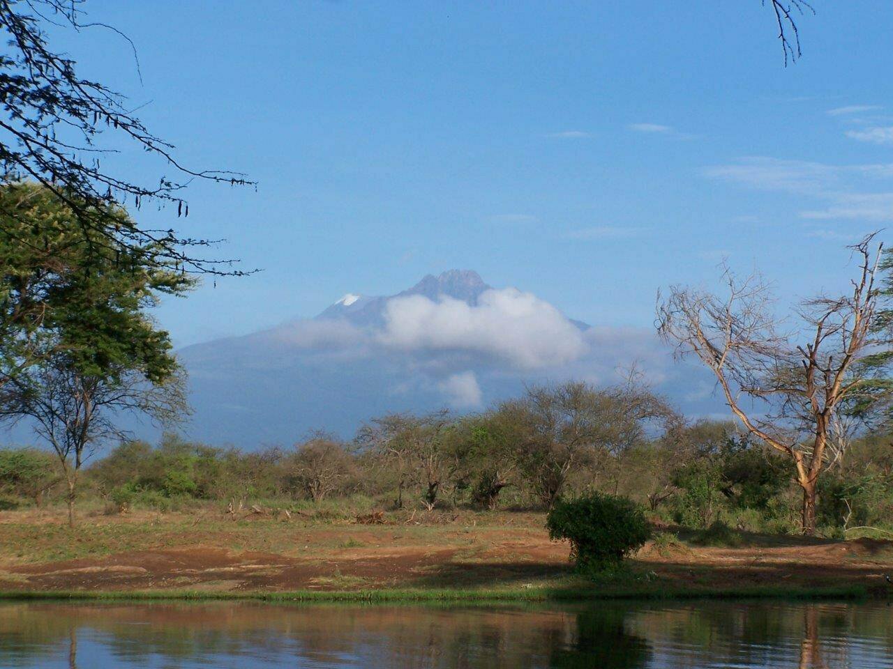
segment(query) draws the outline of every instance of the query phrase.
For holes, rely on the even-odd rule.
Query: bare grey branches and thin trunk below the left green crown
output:
[[[0,420],[30,420],[35,434],[53,447],[68,484],[68,521],[80,469],[97,447],[126,434],[116,426],[122,413],[146,415],[170,424],[188,413],[181,374],[150,382],[138,373],[88,376],[58,363],[36,368],[27,380],[16,378],[0,393]]]

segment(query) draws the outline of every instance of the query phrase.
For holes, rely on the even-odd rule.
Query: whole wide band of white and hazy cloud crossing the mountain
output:
[[[634,366],[649,383],[663,384],[674,366],[651,330],[581,327],[515,288],[488,289],[473,305],[446,295],[397,296],[384,303],[382,314],[375,326],[294,320],[234,346],[258,371],[326,369],[361,384],[388,376],[398,379],[387,388],[395,406],[401,397],[425,395],[460,410],[480,409],[500,396],[498,389],[525,384],[617,383]]]

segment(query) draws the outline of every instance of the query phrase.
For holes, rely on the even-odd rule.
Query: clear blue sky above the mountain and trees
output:
[[[842,246],[893,219],[893,12],[814,7],[788,68],[759,0],[90,0],[142,83],[113,33],[54,39],[182,161],[259,182],[137,214],[264,269],[165,304],[180,345],[447,268],[650,326],[658,287],[710,285],[722,256],[782,301],[842,288]]]

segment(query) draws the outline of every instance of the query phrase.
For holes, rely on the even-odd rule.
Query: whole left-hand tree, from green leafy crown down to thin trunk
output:
[[[31,271],[17,272],[21,264],[13,262],[3,277],[5,301],[27,303],[38,294],[40,316],[25,318],[7,335],[27,345],[0,351],[4,367],[15,368],[0,387],[0,419],[28,418],[55,450],[73,524],[80,467],[93,448],[121,434],[116,422],[122,413],[169,422],[186,412],[183,372],[170,337],[147,310],[160,294],[183,294],[194,282],[163,268],[154,244],[100,246],[97,252],[66,202],[42,186],[21,187],[35,195],[21,226],[29,227],[55,265],[37,262]],[[120,208],[104,216],[129,220]],[[14,239],[0,236],[0,259],[21,251]]]

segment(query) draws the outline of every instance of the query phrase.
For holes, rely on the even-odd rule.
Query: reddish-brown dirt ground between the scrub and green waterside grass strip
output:
[[[633,574],[673,590],[890,589],[893,542],[739,533],[734,548],[651,542]],[[570,578],[568,547],[539,514],[435,514],[349,520],[185,514],[85,518],[0,515],[0,591],[296,591],[524,588]]]

